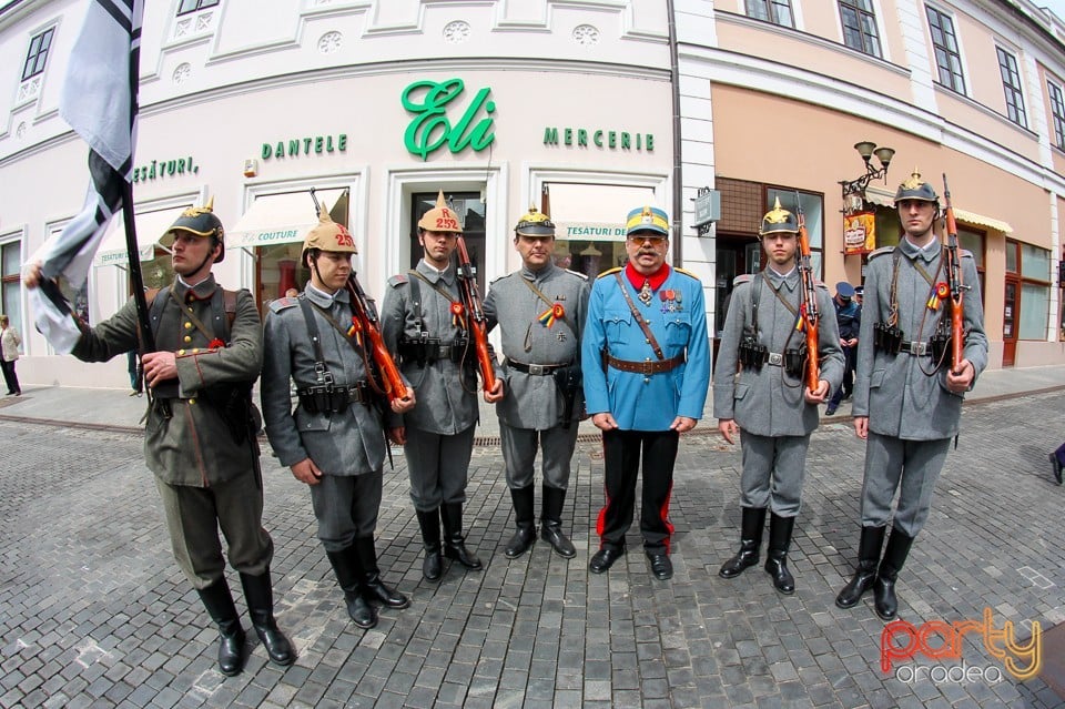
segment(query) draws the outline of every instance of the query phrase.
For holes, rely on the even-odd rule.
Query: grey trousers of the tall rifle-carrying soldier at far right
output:
[[[946,460],[950,438],[903,440],[869,432],[865,479],[862,482],[862,526],[883,527],[891,519],[891,500],[899,490],[894,526],[915,537],[932,508],[932,495]]]

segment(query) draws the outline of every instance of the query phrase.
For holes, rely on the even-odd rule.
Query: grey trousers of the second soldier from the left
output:
[[[383,473],[323,475],[310,485],[311,504],[318,520],[318,539],[326,551],[342,551],[357,537],[373,537],[381,509]]]

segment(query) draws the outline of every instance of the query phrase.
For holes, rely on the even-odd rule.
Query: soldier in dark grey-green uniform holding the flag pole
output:
[[[262,523],[258,413],[251,401],[262,365],[262,325],[252,295],[223,291],[211,274],[225,257],[213,203],[185,210],[160,239],[172,249],[175,276],[148,294],[156,350],[142,358],[152,389],[144,457],[155,474],[178,566],[219,626],[219,669],[233,676],[243,667],[245,638],[225,580],[219,528],[270,659],[291,665],[295,652],[274,620],[274,544]],[[30,266],[27,286],[37,287],[40,278],[39,264]],[[80,326],[72,354],[84,362],[139,348],[133,300],[95,327]]]

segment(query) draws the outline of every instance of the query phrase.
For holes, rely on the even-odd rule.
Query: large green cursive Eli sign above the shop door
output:
[[[465,90],[462,79],[447,81],[415,81],[403,90],[403,108],[415,115],[403,134],[407,151],[428,160],[429,153],[445,144],[453,153],[467,148],[480,152],[491,144],[496,134],[491,132],[496,102],[489,99],[491,89],[486,87],[477,92],[466,111],[454,124],[447,117],[446,108]],[[479,118],[478,117],[483,117]]]

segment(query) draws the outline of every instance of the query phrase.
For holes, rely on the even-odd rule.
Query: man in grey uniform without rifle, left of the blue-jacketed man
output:
[[[536,207],[518,221],[514,247],[521,270],[494,281],[485,298],[488,326],[499,325],[506,355],[507,396],[496,413],[517,531],[504,553],[519,557],[536,540],[532,464],[539,447],[540,535],[571,558],[577,550],[562,534],[561,517],[584,408],[580,332],[591,288],[587,276],[552,263],[555,224]]]

